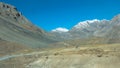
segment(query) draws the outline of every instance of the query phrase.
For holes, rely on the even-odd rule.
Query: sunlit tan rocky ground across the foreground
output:
[[[119,44],[46,49],[6,56],[0,68],[119,68]]]

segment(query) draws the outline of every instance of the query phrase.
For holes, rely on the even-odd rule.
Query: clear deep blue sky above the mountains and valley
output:
[[[35,25],[50,31],[70,29],[80,21],[111,19],[120,13],[120,0],[0,0],[12,4]]]

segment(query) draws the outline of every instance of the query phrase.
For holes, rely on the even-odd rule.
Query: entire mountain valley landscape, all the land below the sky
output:
[[[120,14],[47,32],[0,2],[0,68],[119,67]]]

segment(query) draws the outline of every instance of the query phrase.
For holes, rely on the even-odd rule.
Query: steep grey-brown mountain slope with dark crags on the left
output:
[[[54,42],[44,30],[33,25],[14,6],[4,3],[0,3],[0,43],[1,41],[32,48],[48,47],[48,44]]]

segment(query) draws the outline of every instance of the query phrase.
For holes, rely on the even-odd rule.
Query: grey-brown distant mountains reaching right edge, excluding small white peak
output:
[[[86,20],[73,26],[69,31],[51,31],[60,39],[74,40],[74,39],[90,39],[90,38],[104,38],[107,42],[117,42],[119,40],[120,28],[120,14],[115,16],[112,20]],[[62,28],[61,28],[62,29]],[[65,28],[64,28],[65,29]],[[109,41],[108,41],[109,39]],[[114,40],[111,40],[114,39]]]

